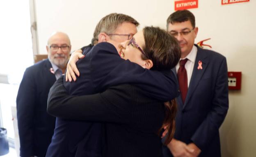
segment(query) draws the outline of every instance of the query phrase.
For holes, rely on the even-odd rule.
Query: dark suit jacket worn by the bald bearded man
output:
[[[50,87],[56,81],[48,59],[26,69],[17,95],[21,157],[44,157],[55,128],[55,117],[46,112]]]

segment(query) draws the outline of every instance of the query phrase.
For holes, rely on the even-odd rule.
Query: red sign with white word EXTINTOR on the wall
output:
[[[174,10],[198,8],[198,0],[179,0],[174,2]]]

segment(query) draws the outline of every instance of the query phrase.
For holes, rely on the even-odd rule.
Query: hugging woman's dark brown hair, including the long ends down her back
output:
[[[153,62],[151,70],[170,70],[178,64],[181,57],[181,48],[178,40],[169,35],[165,30],[159,27],[145,27],[143,29],[145,46],[142,47],[145,55],[142,59],[150,59]],[[167,145],[174,137],[175,116],[177,112],[177,104],[175,99],[165,102],[165,120],[160,131],[167,126],[168,133],[164,144]]]

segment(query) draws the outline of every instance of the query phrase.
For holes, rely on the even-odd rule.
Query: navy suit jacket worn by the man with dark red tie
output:
[[[199,61],[203,69],[197,69]],[[220,157],[219,127],[229,108],[226,58],[197,46],[185,103],[181,96],[177,103],[174,138],[196,144],[202,150],[199,157]],[[163,151],[165,157],[172,156],[166,147]]]

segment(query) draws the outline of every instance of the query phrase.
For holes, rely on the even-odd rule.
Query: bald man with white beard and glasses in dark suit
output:
[[[55,128],[46,112],[50,87],[66,69],[71,44],[68,35],[53,33],[46,46],[48,59],[26,69],[17,95],[21,157],[44,157]]]

